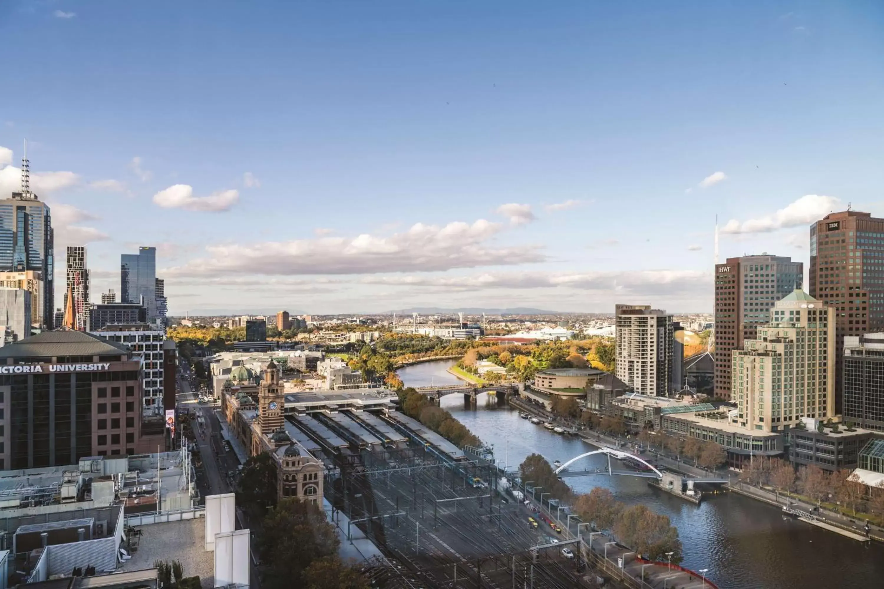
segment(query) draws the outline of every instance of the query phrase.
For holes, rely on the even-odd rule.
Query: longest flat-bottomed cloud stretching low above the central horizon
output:
[[[545,261],[537,245],[488,245],[501,226],[480,219],[445,226],[416,223],[389,237],[312,238],[252,245],[206,247],[209,257],[164,270],[168,276],[347,275],[380,272],[432,272],[451,268],[517,265]]]

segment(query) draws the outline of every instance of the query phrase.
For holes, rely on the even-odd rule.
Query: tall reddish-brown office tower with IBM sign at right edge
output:
[[[842,411],[844,336],[884,330],[884,219],[831,213],[811,225],[809,291],[835,311],[835,407]]]

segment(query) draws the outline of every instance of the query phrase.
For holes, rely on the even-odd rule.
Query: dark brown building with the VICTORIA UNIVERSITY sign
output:
[[[162,418],[141,414],[143,359],[81,331],[44,331],[0,348],[0,470],[165,447]]]

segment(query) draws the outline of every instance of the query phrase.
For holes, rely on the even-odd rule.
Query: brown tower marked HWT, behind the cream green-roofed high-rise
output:
[[[742,350],[773,304],[803,285],[804,264],[785,256],[763,253],[715,265],[715,396],[731,398],[731,350]]]

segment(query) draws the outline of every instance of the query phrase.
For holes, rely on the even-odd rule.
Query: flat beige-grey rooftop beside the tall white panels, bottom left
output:
[[[180,561],[185,577],[199,575],[202,589],[214,587],[215,553],[205,550],[204,517],[139,525],[135,529],[141,530],[138,549],[120,570],[149,569],[156,561]]]

